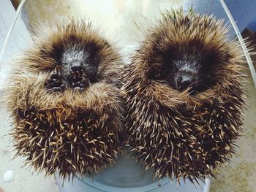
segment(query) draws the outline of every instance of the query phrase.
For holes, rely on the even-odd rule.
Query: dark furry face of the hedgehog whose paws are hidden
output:
[[[195,93],[211,88],[217,78],[215,69],[220,63],[218,50],[205,49],[199,42],[191,43],[183,50],[170,48],[154,55],[162,59],[152,65],[150,77],[178,91],[189,89],[190,93]]]

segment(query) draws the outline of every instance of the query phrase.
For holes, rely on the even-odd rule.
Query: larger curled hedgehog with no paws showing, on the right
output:
[[[244,55],[222,23],[166,12],[124,70],[127,145],[156,177],[204,180],[235,152],[246,106]]]

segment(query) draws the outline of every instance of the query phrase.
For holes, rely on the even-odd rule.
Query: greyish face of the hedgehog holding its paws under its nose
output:
[[[89,53],[86,51],[76,50],[74,47],[62,53],[61,74],[68,82],[72,82],[74,78],[80,78],[81,75],[88,78],[90,82],[95,82],[97,71],[98,66],[90,61]]]

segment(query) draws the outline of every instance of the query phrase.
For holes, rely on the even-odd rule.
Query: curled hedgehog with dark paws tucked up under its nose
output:
[[[83,20],[43,26],[32,39],[7,91],[17,155],[64,179],[113,164],[124,118],[116,47]]]

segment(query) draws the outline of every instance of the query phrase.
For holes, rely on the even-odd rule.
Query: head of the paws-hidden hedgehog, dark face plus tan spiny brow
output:
[[[188,20],[194,23],[188,25]],[[218,83],[219,71],[229,63],[227,39],[219,33],[219,24],[211,19],[185,16],[176,22],[160,23],[154,34],[146,38],[145,50],[140,50],[148,64],[149,78],[178,91],[206,91]]]

